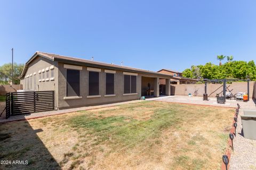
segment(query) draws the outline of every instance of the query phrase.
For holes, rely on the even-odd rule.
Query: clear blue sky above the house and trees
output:
[[[256,1],[0,1],[0,65],[38,50],[157,71],[255,60]]]

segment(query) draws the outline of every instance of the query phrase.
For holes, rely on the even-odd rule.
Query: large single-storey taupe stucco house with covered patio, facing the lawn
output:
[[[172,75],[81,58],[36,52],[20,76],[23,89],[54,90],[59,109],[159,96],[159,81],[170,95]]]

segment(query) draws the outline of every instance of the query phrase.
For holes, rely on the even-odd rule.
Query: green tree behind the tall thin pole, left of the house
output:
[[[13,63],[13,84],[20,84],[20,79],[24,64]],[[12,63],[0,66],[0,80],[5,83],[12,81]]]

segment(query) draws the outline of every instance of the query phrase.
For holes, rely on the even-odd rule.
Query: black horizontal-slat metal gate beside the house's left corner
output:
[[[8,93],[6,94],[6,118],[12,115],[52,111],[55,108],[54,96],[54,91]],[[7,106],[9,106],[9,109],[7,109]]]

